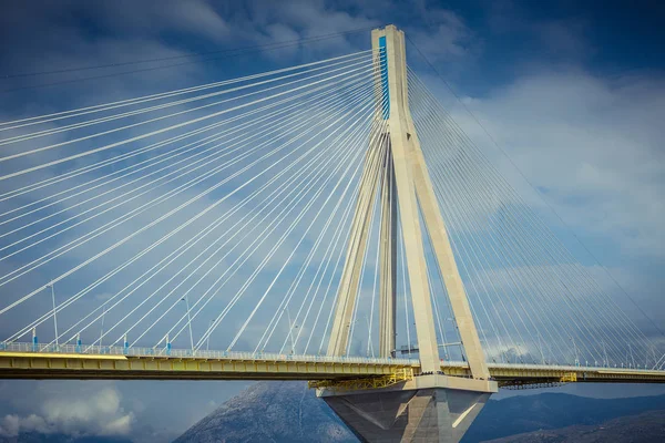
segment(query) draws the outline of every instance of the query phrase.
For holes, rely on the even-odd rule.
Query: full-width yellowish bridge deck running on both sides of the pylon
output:
[[[553,382],[664,383],[665,371],[545,364],[489,363],[500,385]],[[0,379],[143,379],[143,380],[346,380],[411,369],[415,359],[290,356],[225,351],[121,347],[33,347],[0,343]],[[466,362],[441,362],[441,371],[470,377]]]

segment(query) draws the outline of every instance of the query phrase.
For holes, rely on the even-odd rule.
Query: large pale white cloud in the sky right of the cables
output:
[[[567,223],[624,253],[661,258],[665,179],[656,120],[664,106],[665,85],[656,78],[606,79],[581,70],[524,75],[469,103]],[[468,115],[457,119],[487,141]]]

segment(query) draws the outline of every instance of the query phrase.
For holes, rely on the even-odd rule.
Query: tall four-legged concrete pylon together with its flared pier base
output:
[[[380,193],[380,354],[390,357],[395,349],[395,245],[399,205],[420,372],[416,371],[412,380],[389,388],[369,391],[327,388],[319,389],[317,395],[324,398],[365,442],[459,442],[498,387],[489,380],[464,286],[409,111],[403,32],[388,25],[374,30],[371,39],[378,71],[377,102],[388,103],[388,106],[377,106],[376,119],[388,121],[388,128],[380,137],[375,137],[378,142],[368,148],[328,354],[344,356],[348,349],[348,332],[370,229],[371,203]],[[440,371],[420,215],[443,276],[470,379],[447,377]]]

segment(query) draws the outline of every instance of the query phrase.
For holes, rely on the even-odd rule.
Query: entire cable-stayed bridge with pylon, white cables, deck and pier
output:
[[[664,350],[406,63],[344,56],[0,124],[0,377],[309,380],[367,441]]]

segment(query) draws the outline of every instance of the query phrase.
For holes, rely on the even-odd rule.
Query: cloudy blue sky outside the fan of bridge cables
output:
[[[515,188],[540,205],[582,262],[612,287],[606,268],[663,330],[665,11],[655,1],[542,3],[2,2],[0,120],[346,54],[367,49],[369,34],[236,58],[211,54],[186,64],[175,59],[178,65],[162,69],[155,68],[176,62],[126,62],[395,23],[410,40],[410,65],[464,131]],[[98,65],[112,66],[32,74]],[[626,306],[635,309],[630,301]],[[167,441],[245,385],[6,381],[0,382],[0,433],[32,429]],[[664,392],[576,385],[565,391],[595,396]]]

